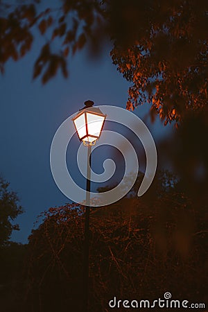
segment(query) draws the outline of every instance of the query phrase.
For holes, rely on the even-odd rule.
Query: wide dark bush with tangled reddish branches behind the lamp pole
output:
[[[167,290],[206,302],[202,210],[168,172],[158,175],[153,189],[92,209],[89,311],[109,311],[114,295],[155,300]],[[25,311],[82,311],[83,211],[65,205],[42,214],[29,238]]]

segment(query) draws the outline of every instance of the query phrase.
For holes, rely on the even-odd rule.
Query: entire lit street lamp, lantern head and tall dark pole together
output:
[[[83,312],[88,311],[89,284],[89,213],[90,213],[90,179],[92,146],[101,136],[106,115],[98,107],[92,107],[93,101],[86,101],[85,107],[72,119],[80,141],[87,146],[87,184],[85,205],[85,242],[83,263]]]

